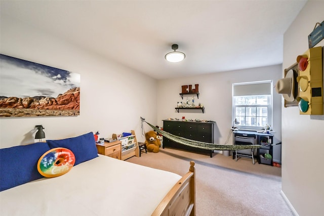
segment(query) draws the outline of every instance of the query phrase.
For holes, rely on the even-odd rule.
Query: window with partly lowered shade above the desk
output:
[[[242,129],[264,129],[272,125],[272,81],[233,84],[233,122]]]

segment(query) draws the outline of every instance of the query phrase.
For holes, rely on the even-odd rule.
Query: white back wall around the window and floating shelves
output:
[[[188,76],[177,79],[165,79],[158,81],[157,91],[157,121],[163,125],[161,120],[167,118],[214,120],[215,139],[217,144],[224,144],[231,134],[232,125],[232,84],[238,82],[251,82],[261,80],[273,80],[273,84],[281,78],[281,65],[242,69],[221,73]],[[199,99],[195,96],[195,104],[204,104],[205,113],[200,110],[175,110],[178,101],[181,99],[181,86],[199,84]],[[273,129],[275,137],[281,140],[281,95],[273,89]],[[188,97],[191,100],[191,96]],[[232,144],[232,138],[228,144]],[[279,147],[280,148],[280,147]],[[279,158],[273,158],[279,161]]]

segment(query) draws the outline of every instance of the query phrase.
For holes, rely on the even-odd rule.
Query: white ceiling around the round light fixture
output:
[[[1,16],[156,79],[282,63],[306,1],[1,1]],[[186,54],[169,63],[165,54]]]

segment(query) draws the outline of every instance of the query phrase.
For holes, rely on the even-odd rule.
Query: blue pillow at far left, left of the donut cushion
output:
[[[37,170],[37,162],[48,150],[47,143],[0,149],[0,191],[44,178]]]

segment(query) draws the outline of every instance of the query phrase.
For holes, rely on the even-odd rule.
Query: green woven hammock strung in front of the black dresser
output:
[[[144,118],[142,118],[142,122],[146,122]],[[180,143],[182,145],[191,146],[199,149],[206,149],[206,150],[229,150],[229,151],[235,151],[235,150],[244,150],[244,149],[254,149],[254,148],[260,148],[261,145],[218,145],[214,143],[205,143],[200,142],[196,140],[190,140],[183,137],[175,136],[173,134],[170,134],[168,132],[162,131],[161,129],[157,128],[156,126],[153,126],[152,124],[146,122],[150,127],[154,129],[157,133],[163,135],[165,138],[168,138],[171,141],[174,141],[176,143]]]

